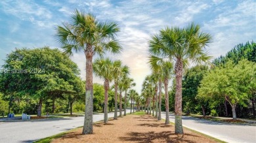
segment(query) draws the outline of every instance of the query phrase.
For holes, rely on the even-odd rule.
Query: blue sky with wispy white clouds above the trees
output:
[[[119,56],[131,69],[131,77],[140,91],[142,80],[150,74],[147,48],[150,36],[165,26],[184,27],[195,22],[213,40],[207,50],[213,57],[226,54],[236,44],[256,40],[256,1],[213,0],[1,0],[0,1],[0,65],[14,48],[58,48],[54,27],[70,20],[74,9],[91,12],[101,21],[112,20],[121,27],[118,39],[123,46]],[[85,56],[71,57],[85,79]],[[102,83],[98,78],[95,82]]]

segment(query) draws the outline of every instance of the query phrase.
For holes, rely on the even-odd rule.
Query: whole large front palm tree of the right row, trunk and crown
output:
[[[188,61],[194,63],[208,62],[211,58],[204,48],[209,44],[211,36],[200,32],[200,25],[190,24],[181,29],[179,27],[165,27],[160,35],[155,35],[150,43],[150,54],[175,61],[175,133],[183,134],[182,128],[182,72]],[[154,40],[159,39],[159,40]]]

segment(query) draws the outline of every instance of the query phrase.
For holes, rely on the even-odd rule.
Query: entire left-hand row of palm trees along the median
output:
[[[85,120],[83,134],[93,133],[93,69],[95,74],[104,78],[105,105],[108,98],[109,83],[114,80],[115,84],[115,119],[117,119],[117,84],[118,79],[127,67],[121,66],[121,61],[112,63],[110,59],[97,59],[93,68],[93,57],[103,56],[106,52],[119,54],[122,50],[116,39],[119,26],[115,22],[99,22],[93,14],[86,14],[75,10],[70,22],[63,23],[56,27],[56,40],[61,44],[64,54],[72,55],[74,52],[83,52],[86,58],[86,83],[85,83]],[[110,64],[111,63],[111,64]],[[98,64],[98,65],[97,65]],[[103,67],[100,67],[102,64]],[[108,71],[112,67],[114,72]],[[104,69],[104,73],[99,71]],[[113,74],[114,73],[114,74]],[[113,77],[112,77],[113,76]],[[119,88],[121,89],[121,88]],[[120,92],[121,96],[121,92]],[[121,108],[120,108],[121,109]],[[104,115],[107,121],[107,114]]]

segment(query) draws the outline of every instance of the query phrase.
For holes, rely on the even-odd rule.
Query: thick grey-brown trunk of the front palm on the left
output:
[[[86,57],[86,83],[83,135],[93,133],[93,47],[87,44],[84,52]]]

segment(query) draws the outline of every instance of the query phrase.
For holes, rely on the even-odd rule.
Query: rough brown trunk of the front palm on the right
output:
[[[182,69],[181,59],[175,64],[176,93],[175,93],[175,133],[184,134],[182,127]]]

